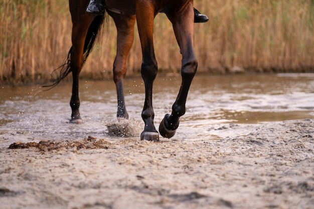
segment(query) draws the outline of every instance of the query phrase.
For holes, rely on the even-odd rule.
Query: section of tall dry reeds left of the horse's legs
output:
[[[68,13],[66,1],[1,1],[2,81],[35,81],[49,77],[71,46]]]

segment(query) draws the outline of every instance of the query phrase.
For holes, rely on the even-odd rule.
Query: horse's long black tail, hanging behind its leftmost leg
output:
[[[101,26],[103,25],[105,17],[106,17],[105,15],[96,16],[88,28],[87,35],[85,38],[84,51],[83,51],[85,61],[86,61],[87,57],[89,56],[89,53],[93,49],[94,43],[95,43],[97,36],[101,30]],[[68,53],[68,56],[66,57],[64,63],[52,72],[51,82],[53,82],[53,83],[51,85],[45,85],[43,87],[53,88],[53,87],[57,86],[65,77],[67,77],[72,72],[72,69],[71,69],[72,52],[73,52],[73,46],[71,46],[69,53]],[[55,72],[57,72],[58,70],[60,70],[59,76],[57,78],[54,78],[53,74]]]

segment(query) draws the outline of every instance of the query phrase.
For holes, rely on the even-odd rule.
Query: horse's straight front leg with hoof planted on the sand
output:
[[[142,119],[145,123],[140,139],[159,141],[158,131],[153,124],[154,112],[152,108],[152,84],[157,74],[157,61],[153,49],[153,19],[154,6],[151,1],[136,1],[136,21],[142,48],[141,76],[145,84],[145,101]]]

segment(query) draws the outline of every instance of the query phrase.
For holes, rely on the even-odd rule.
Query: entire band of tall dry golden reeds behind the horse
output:
[[[199,71],[247,70],[303,72],[314,70],[314,0],[195,0],[210,21],[195,24]],[[2,0],[0,2],[0,83],[48,79],[71,46],[68,1]],[[179,47],[165,15],[155,22],[156,58],[161,71],[178,72]],[[81,75],[111,76],[116,47],[113,21],[104,26]],[[128,58],[128,75],[139,72],[137,32]]]

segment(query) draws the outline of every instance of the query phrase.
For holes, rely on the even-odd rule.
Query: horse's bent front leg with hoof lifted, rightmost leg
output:
[[[182,84],[172,113],[167,114],[159,126],[162,136],[171,138],[175,135],[179,126],[179,119],[186,111],[186,101],[192,79],[197,70],[197,60],[193,48],[193,5],[190,3],[187,10],[181,14],[167,14],[173,23],[174,32],[182,53],[181,76]]]

